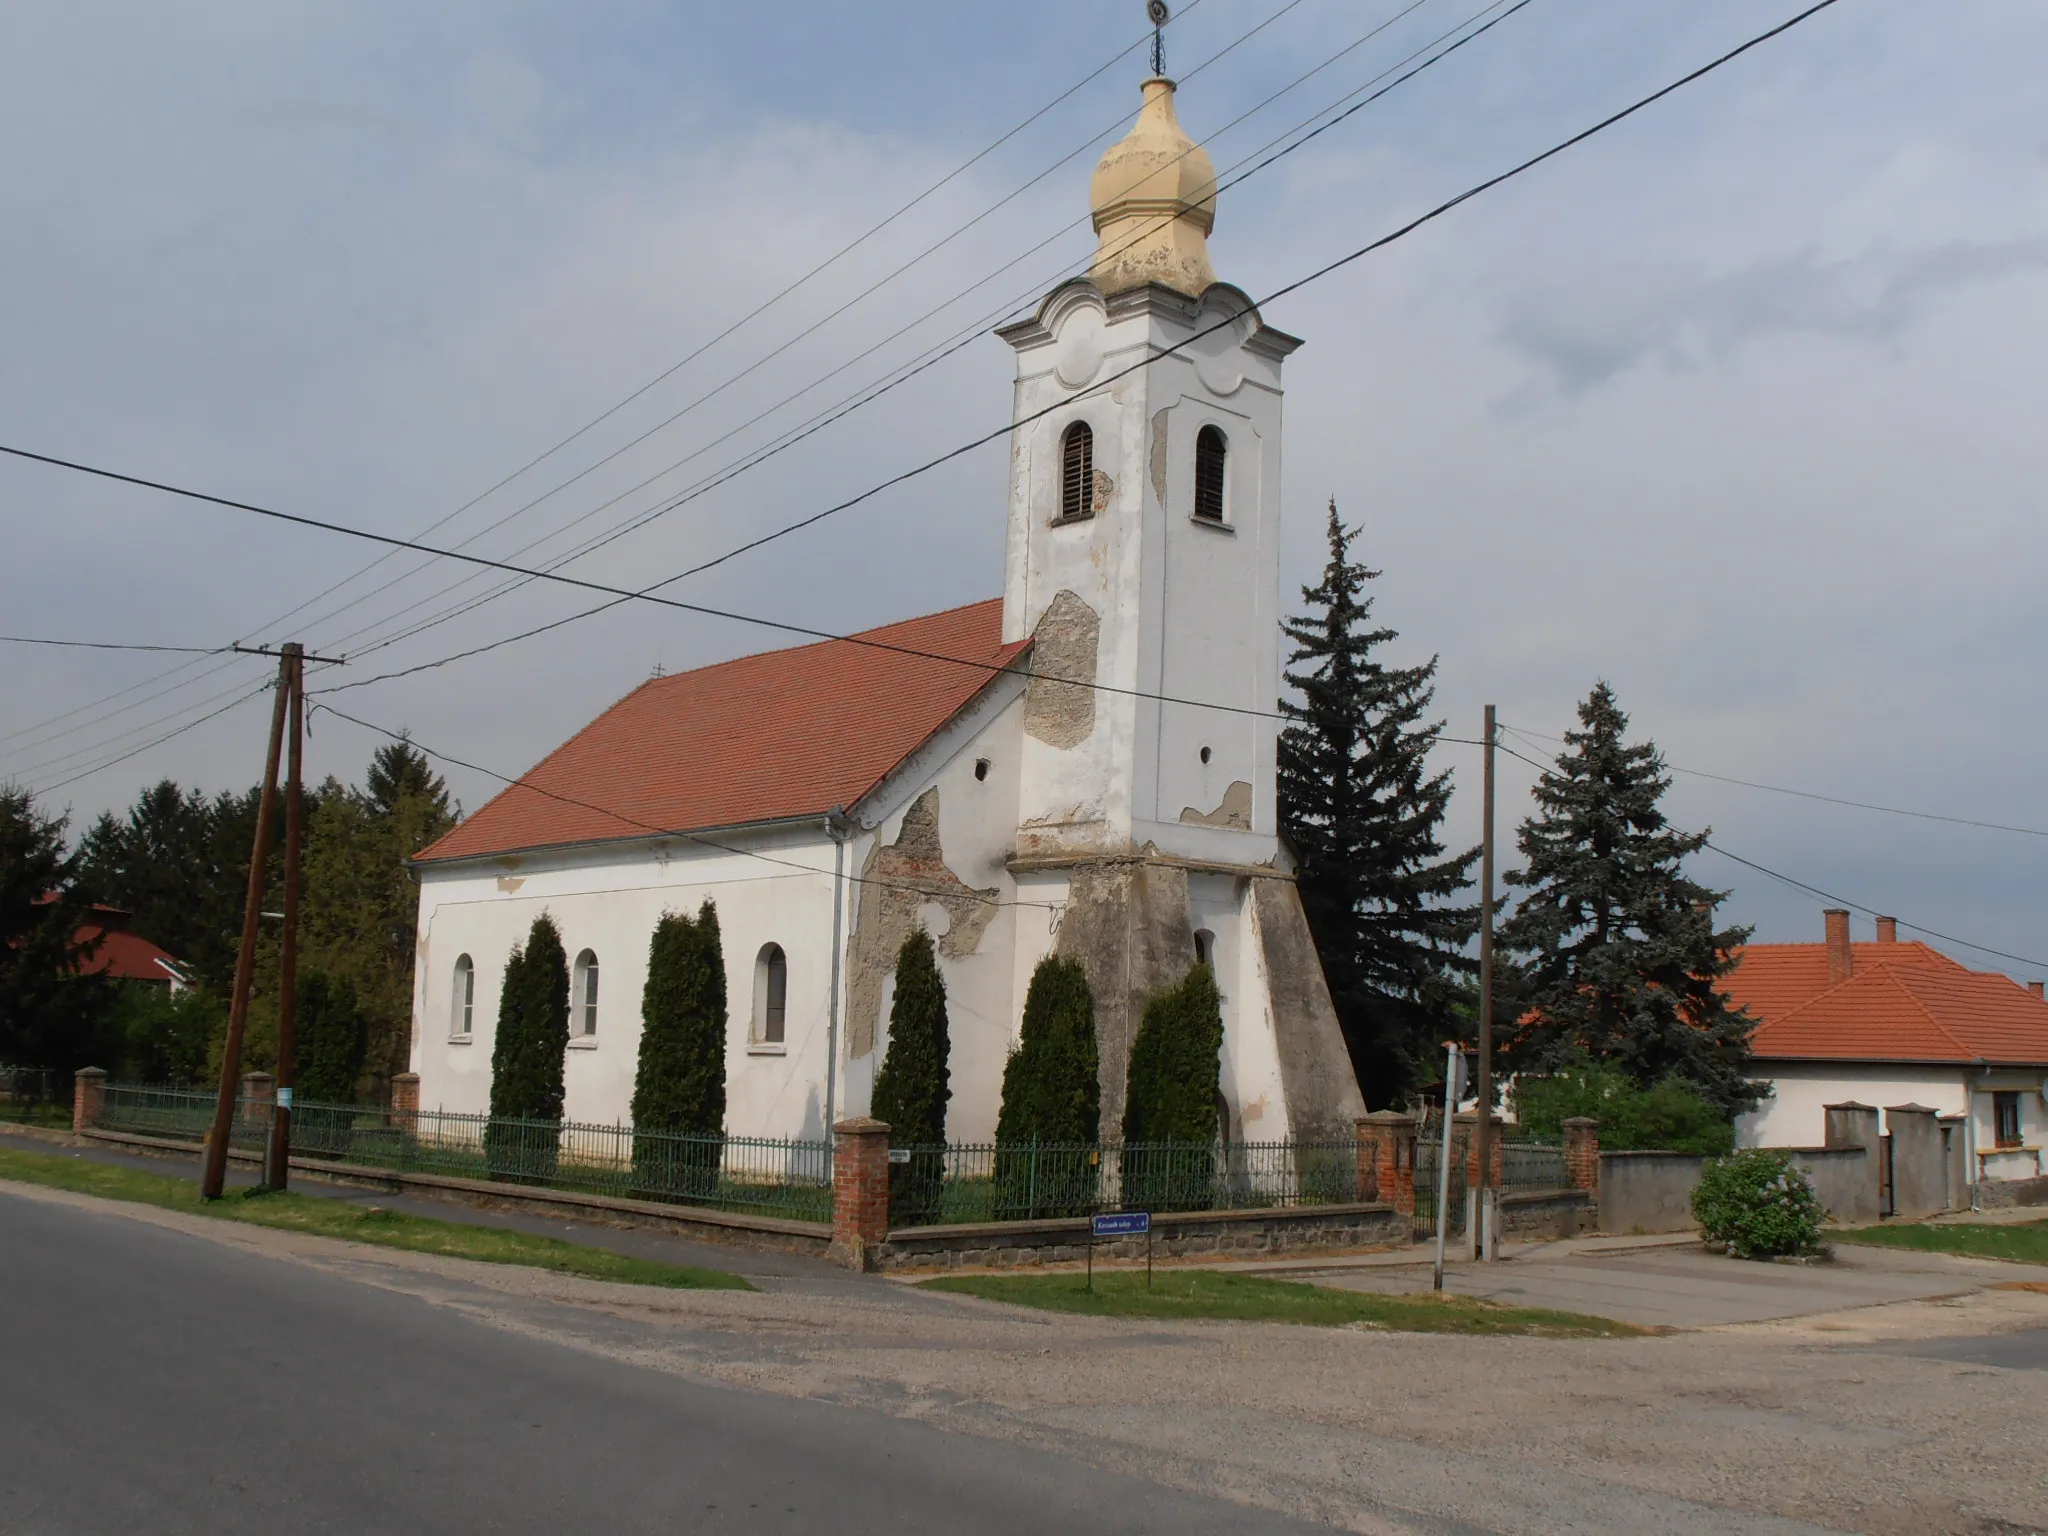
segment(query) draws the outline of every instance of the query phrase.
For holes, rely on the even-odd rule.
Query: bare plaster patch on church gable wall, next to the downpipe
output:
[[[887,848],[877,842],[860,866],[854,934],[846,954],[846,1055],[874,1055],[883,991],[897,952],[918,926],[918,909],[946,913],[938,952],[950,961],[973,954],[995,918],[997,887],[977,891],[946,868],[938,842],[938,788],[928,788],[903,813],[903,829]]]

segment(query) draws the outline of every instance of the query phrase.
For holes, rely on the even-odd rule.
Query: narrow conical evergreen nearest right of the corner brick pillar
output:
[[[895,983],[889,1049],[874,1073],[872,1114],[889,1122],[893,1147],[944,1147],[946,1102],[952,1098],[946,979],[938,973],[932,936],[922,928],[897,952]],[[938,1221],[944,1174],[942,1153],[913,1153],[907,1163],[891,1163],[891,1225]]]

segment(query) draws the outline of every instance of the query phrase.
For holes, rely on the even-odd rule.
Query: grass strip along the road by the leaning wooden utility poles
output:
[[[670,1286],[676,1290],[752,1290],[737,1274],[723,1270],[635,1260],[602,1247],[563,1243],[559,1237],[506,1231],[504,1227],[469,1227],[457,1221],[434,1221],[432,1217],[360,1206],[348,1200],[324,1200],[289,1190],[229,1190],[219,1200],[201,1200],[197,1180],[145,1174],[139,1167],[96,1163],[61,1153],[43,1155],[0,1147],[0,1180],[43,1184],[51,1190],[92,1194],[100,1200],[184,1210],[195,1217],[244,1221],[254,1227],[340,1237],[348,1243],[401,1247],[408,1253],[440,1253],[451,1260],[479,1260],[483,1264],[524,1264],[588,1280],[621,1280],[631,1286]]]

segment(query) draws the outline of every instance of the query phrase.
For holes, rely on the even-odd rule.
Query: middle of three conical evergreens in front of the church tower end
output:
[[[995,1116],[995,1198],[1004,1214],[1085,1214],[1100,1167],[1083,1155],[1102,1139],[1096,995],[1079,961],[1049,954],[1024,993],[1024,1022],[1004,1067]]]

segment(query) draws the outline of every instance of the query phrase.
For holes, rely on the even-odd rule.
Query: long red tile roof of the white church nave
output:
[[[1006,645],[1001,623],[991,598],[651,678],[418,862],[850,807],[1024,653],[1030,641]]]

